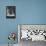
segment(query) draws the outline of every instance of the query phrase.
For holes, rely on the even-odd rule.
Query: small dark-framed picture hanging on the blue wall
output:
[[[6,6],[6,18],[16,18],[16,6]]]

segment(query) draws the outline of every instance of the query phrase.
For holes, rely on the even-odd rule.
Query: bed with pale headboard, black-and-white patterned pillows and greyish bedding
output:
[[[46,43],[46,25],[19,24],[18,41],[20,43],[19,46],[43,45],[43,43]]]

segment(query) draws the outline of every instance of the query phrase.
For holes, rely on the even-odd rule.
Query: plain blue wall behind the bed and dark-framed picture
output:
[[[8,5],[16,6],[16,19],[6,19]],[[46,24],[46,0],[0,0],[0,43],[8,43],[9,32],[18,32],[17,24]]]

